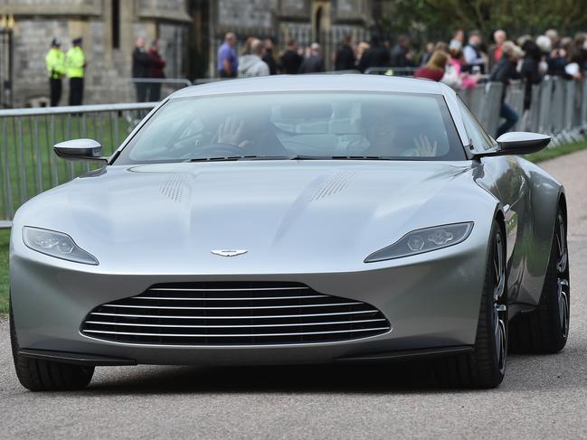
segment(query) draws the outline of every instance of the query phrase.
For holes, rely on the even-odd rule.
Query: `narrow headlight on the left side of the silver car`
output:
[[[85,265],[98,265],[96,257],[79,248],[69,235],[62,232],[24,226],[23,241],[27,248],[32,248],[51,257]]]

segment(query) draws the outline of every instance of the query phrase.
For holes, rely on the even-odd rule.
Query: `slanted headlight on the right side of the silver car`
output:
[[[448,248],[467,239],[472,229],[473,222],[469,221],[467,223],[453,223],[451,225],[412,230],[393,245],[366,257],[365,263],[408,257],[430,252],[431,250]]]

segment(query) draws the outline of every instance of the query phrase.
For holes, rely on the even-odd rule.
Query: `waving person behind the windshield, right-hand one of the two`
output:
[[[438,148],[421,128],[414,129],[415,119],[399,115],[397,108],[382,103],[361,105],[361,125],[369,146],[365,156],[433,157]]]

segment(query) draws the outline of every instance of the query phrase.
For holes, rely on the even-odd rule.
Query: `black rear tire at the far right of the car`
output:
[[[571,285],[566,221],[559,209],[540,302],[535,310],[511,323],[509,350],[518,353],[557,353],[569,336]]]

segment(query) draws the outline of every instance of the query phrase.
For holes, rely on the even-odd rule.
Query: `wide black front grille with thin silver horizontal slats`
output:
[[[92,338],[162,345],[339,342],[390,329],[373,305],[274,282],[160,284],[99,305],[81,324]]]

